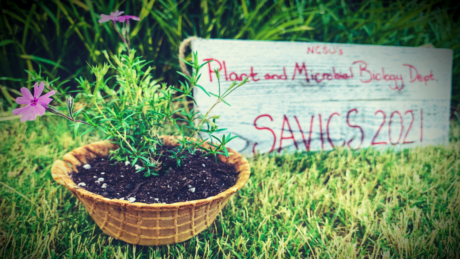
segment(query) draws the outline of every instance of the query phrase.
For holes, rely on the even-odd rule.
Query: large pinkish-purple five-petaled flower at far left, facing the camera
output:
[[[27,104],[24,107],[13,109],[14,115],[22,114],[21,121],[35,121],[37,115],[43,115],[45,113],[45,107],[53,100],[52,98],[48,98],[55,94],[54,90],[40,96],[41,92],[45,88],[45,84],[43,81],[40,82],[40,86],[38,83],[34,85],[34,96],[30,93],[29,89],[22,87],[21,92],[23,93],[24,97],[16,98],[17,104]]]

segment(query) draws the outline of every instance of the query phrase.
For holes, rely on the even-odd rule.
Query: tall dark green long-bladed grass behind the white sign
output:
[[[178,46],[193,35],[414,47],[431,43],[454,50],[452,103],[460,104],[458,0],[2,0],[0,111],[11,107],[20,87],[30,86],[24,69],[41,65],[45,78],[60,77],[58,92],[75,87],[75,77],[93,81],[86,62],[101,65],[106,61],[102,50],[120,49],[111,26],[97,22],[99,14],[115,9],[141,18],[132,22],[132,47],[152,61],[155,78],[169,84],[178,82]]]

